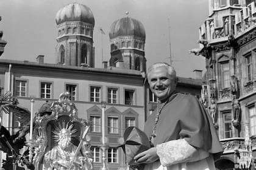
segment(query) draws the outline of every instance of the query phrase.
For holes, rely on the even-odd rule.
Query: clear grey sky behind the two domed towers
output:
[[[195,69],[205,72],[204,57],[188,50],[199,47],[199,27],[208,16],[207,0],[1,0],[0,30],[7,45],[0,58],[35,62],[38,55],[44,55],[44,63],[55,63],[55,15],[75,1],[87,5],[94,15],[95,67],[102,67],[101,50],[104,61],[110,59],[110,25],[129,12],[146,30],[147,67],[170,63],[171,42],[172,66],[179,77],[193,78]]]

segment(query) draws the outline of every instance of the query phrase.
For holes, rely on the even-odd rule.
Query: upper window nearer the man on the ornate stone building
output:
[[[221,89],[230,87],[229,63],[221,63]]]

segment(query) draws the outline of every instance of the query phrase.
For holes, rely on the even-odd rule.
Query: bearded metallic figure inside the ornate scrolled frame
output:
[[[75,155],[77,146],[71,143],[72,132],[63,128],[59,132],[59,143],[44,155],[46,169],[74,170],[87,169],[86,158],[79,152]]]

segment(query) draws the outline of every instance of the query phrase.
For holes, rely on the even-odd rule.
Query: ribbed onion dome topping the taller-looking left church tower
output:
[[[55,16],[56,24],[67,21],[81,21],[92,24],[94,27],[94,16],[91,9],[85,5],[71,3],[60,9]]]

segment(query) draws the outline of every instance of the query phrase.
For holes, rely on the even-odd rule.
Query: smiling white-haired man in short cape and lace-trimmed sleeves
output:
[[[176,92],[176,72],[169,64],[149,67],[148,82],[160,104],[144,126],[152,148],[134,160],[146,170],[215,169],[213,154],[222,148],[204,106],[193,95]]]

